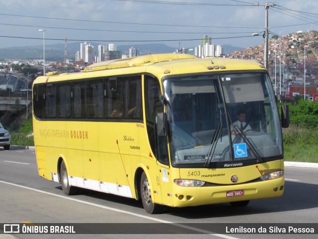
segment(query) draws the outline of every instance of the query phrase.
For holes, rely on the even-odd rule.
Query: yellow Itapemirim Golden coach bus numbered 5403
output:
[[[38,172],[67,195],[115,194],[148,213],[279,197],[289,119],[277,98],[244,60],[154,54],[49,72],[33,83]]]

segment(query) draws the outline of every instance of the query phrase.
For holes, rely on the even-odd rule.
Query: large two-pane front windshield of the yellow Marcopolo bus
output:
[[[172,165],[226,167],[282,157],[268,74],[183,75],[164,79],[163,87]]]

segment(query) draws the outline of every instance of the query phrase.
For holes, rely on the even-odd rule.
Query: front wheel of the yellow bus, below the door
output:
[[[146,173],[143,172],[140,180],[141,201],[147,213],[155,214],[160,211],[160,205],[153,203],[151,199],[151,191]]]

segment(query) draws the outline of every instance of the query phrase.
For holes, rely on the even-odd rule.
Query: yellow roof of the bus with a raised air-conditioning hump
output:
[[[154,74],[160,79],[166,75],[240,70],[266,70],[266,68],[255,61],[217,57],[201,59],[189,54],[167,53],[98,62],[89,65],[78,73],[59,74],[56,71],[48,72],[45,76],[38,77],[36,82],[138,74],[143,72]],[[57,76],[61,77],[56,78]]]

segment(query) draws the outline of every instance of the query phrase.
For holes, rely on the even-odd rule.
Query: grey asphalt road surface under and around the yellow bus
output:
[[[51,224],[79,223],[94,232],[92,223],[102,223],[104,230],[115,234],[92,234],[89,238],[141,238],[155,239],[290,239],[317,238],[310,234],[200,234],[198,225],[229,225],[264,223],[293,225],[293,223],[318,224],[318,168],[285,168],[285,193],[283,197],[254,200],[247,207],[234,208],[230,204],[189,208],[168,208],[161,214],[149,215],[141,202],[109,194],[84,191],[81,195],[65,196],[59,184],[38,176],[35,151],[15,149],[4,151],[0,147],[0,223]],[[105,223],[108,225],[105,226]],[[111,224],[113,223],[113,224]],[[134,224],[133,224],[134,223]],[[149,224],[157,223],[156,227]],[[159,224],[160,223],[160,224]],[[175,223],[173,230],[185,230],[183,224],[191,223],[190,230],[198,234],[170,235],[161,223]],[[123,226],[121,226],[121,225]],[[131,231],[127,225],[133,225]],[[111,226],[109,226],[111,225]],[[116,226],[119,229],[116,229]],[[212,227],[212,228],[213,228]],[[280,226],[279,226],[280,227]],[[105,229],[106,228],[106,229]],[[116,231],[117,230],[117,231]],[[121,231],[122,230],[122,231]],[[127,230],[127,234],[125,234]],[[146,235],[149,230],[156,234]],[[206,230],[206,228],[204,228]],[[193,231],[193,230],[192,230]],[[206,231],[204,231],[206,232]],[[152,232],[154,233],[154,232]],[[163,235],[165,234],[165,235]],[[87,238],[88,235],[8,235],[0,239],[33,238]]]

